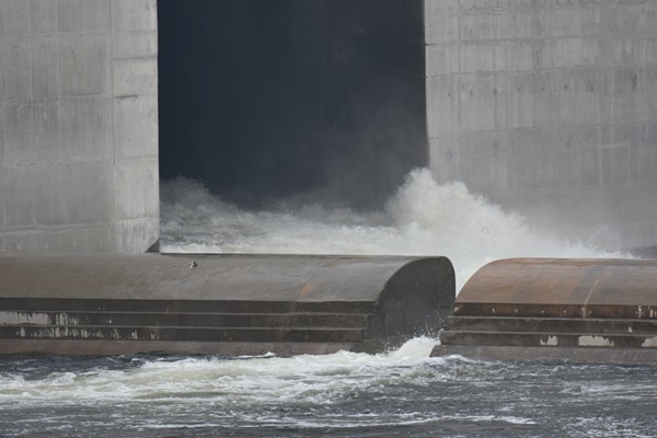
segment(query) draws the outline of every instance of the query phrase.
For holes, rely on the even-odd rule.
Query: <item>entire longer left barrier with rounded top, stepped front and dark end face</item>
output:
[[[436,334],[453,299],[445,257],[0,253],[0,346],[380,351]]]

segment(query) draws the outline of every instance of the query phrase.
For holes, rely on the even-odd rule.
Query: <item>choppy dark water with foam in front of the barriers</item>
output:
[[[0,436],[653,437],[657,367],[376,356],[0,359]]]

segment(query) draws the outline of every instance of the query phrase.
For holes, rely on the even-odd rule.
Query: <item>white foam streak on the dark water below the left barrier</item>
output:
[[[264,355],[227,359],[136,357],[136,366],[55,371],[39,378],[0,376],[0,405],[14,402],[87,404],[120,400],[211,399],[230,404],[336,403],[342,393],[387,379],[394,369],[413,372],[436,341],[418,337],[378,355],[338,351],[324,356]],[[110,359],[106,359],[110,360]],[[72,367],[71,367],[72,368]]]

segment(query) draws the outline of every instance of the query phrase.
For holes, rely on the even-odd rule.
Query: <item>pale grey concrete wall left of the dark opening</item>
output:
[[[0,251],[159,234],[155,0],[0,0]]]

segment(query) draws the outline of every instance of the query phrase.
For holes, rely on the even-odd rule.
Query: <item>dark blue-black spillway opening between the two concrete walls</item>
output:
[[[422,0],[160,0],[160,175],[376,208],[427,163]]]

